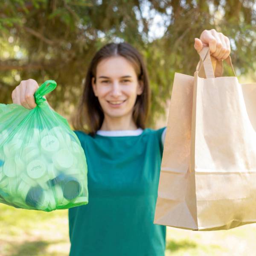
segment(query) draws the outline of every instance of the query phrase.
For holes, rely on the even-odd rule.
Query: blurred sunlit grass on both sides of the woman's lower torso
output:
[[[256,255],[256,224],[231,230],[167,227],[166,256]],[[0,256],[68,256],[67,210],[15,209],[0,204]]]

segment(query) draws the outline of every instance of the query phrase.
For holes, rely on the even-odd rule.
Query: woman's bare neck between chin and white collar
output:
[[[137,125],[134,123],[132,116],[122,116],[113,118],[105,115],[100,130],[102,131],[122,131],[122,130],[136,130]]]

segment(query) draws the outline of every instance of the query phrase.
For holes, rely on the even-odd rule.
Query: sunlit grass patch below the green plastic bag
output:
[[[0,256],[67,256],[67,210],[42,212],[0,204]]]

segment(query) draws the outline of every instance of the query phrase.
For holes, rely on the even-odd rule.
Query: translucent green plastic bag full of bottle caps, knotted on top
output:
[[[37,106],[0,104],[0,202],[50,212],[88,203],[87,163],[67,120],[49,108],[45,81]]]

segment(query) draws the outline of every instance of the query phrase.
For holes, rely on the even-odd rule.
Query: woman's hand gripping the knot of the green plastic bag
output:
[[[22,105],[27,109],[36,107],[34,94],[39,85],[37,81],[33,79],[23,80],[12,91],[12,102],[18,105]]]

